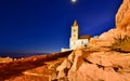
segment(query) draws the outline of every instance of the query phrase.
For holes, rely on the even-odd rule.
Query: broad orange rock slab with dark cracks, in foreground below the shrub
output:
[[[109,51],[94,52],[84,56],[78,52],[75,52],[75,60],[68,71],[69,81],[130,80],[130,53],[126,55]]]

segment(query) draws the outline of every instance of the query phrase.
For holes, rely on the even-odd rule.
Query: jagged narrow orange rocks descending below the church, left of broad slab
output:
[[[75,55],[77,54],[77,55]],[[68,70],[73,68],[73,71],[76,71],[82,64],[84,53],[81,50],[74,51],[68,58],[66,58],[61,66],[56,68],[57,80],[68,81],[67,75]],[[72,66],[73,65],[73,66]]]

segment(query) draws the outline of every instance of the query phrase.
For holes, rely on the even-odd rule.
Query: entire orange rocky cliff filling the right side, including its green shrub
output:
[[[56,67],[53,80],[130,81],[129,36],[130,0],[123,0],[116,15],[116,28],[92,38],[88,48],[75,50]]]

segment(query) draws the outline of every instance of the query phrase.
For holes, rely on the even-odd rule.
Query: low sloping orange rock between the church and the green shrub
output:
[[[114,38],[120,35],[121,35],[121,31],[117,29],[110,29],[107,32],[104,32],[101,36],[99,36],[99,38],[96,37],[96,38],[90,39],[89,46],[92,46],[92,48],[110,46],[115,42]]]

